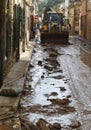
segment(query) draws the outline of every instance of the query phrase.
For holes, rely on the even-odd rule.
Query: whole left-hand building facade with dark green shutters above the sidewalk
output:
[[[34,6],[36,0],[33,2],[34,0],[0,1],[0,87],[4,77],[13,64],[20,60],[21,53],[25,52],[31,40],[33,14],[30,7],[32,4]]]

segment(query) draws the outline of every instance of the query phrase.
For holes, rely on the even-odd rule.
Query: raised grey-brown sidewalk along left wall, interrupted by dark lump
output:
[[[32,56],[33,48],[35,43],[30,42],[30,50],[26,50],[24,53],[21,54],[20,61],[16,62],[13,67],[11,68],[11,71],[8,73],[6,78],[4,79],[3,88],[13,88],[17,89],[20,88],[23,90],[29,61]],[[5,107],[5,110],[3,109],[3,112],[6,111],[6,107],[10,110],[10,107],[13,108],[13,110],[16,110],[20,101],[20,95],[17,97],[13,96],[0,96],[0,108]]]

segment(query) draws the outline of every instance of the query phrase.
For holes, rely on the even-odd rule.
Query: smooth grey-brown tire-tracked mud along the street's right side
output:
[[[91,130],[91,71],[76,55],[64,52],[60,62],[66,76],[70,79],[68,84],[77,100],[77,116],[81,121],[82,130]]]

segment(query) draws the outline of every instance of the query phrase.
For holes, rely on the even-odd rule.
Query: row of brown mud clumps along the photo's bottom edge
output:
[[[62,130],[62,126],[60,125],[60,123],[54,122],[53,124],[50,124],[49,122],[47,122],[46,120],[40,118],[36,125],[33,124],[32,122],[30,122],[28,119],[26,118],[21,118],[21,122],[22,122],[22,130]],[[68,130],[80,130],[79,127],[81,126],[80,122],[78,121],[73,121],[72,125],[70,125],[69,127],[65,127],[64,129],[68,129]]]

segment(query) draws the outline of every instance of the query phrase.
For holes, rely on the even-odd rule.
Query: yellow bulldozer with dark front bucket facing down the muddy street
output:
[[[41,43],[68,43],[69,31],[66,25],[62,13],[47,11],[40,32]]]

